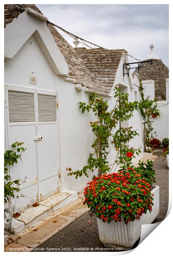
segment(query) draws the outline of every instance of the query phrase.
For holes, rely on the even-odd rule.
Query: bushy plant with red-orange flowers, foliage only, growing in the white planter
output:
[[[100,175],[87,183],[88,186],[84,189],[83,204],[87,204],[91,215],[94,214],[103,222],[120,222],[124,219],[127,224],[129,221],[140,219],[147,210],[150,213],[152,211],[153,178],[148,175],[145,179],[142,171],[140,173],[140,167],[132,166],[131,154],[126,153],[126,165],[122,166],[118,173]],[[149,172],[154,172],[152,161],[148,161],[147,165],[150,166]]]

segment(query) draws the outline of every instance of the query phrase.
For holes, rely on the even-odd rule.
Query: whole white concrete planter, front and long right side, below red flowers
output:
[[[142,224],[152,223],[159,214],[159,186],[154,186],[151,192],[154,194],[152,212],[147,211],[140,220],[129,221],[126,225],[124,221],[104,223],[97,218],[99,239],[105,247],[122,248],[124,251],[133,247],[140,238]]]

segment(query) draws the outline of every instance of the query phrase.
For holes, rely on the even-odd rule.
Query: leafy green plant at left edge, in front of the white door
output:
[[[7,204],[9,202],[10,198],[19,198],[24,197],[23,194],[20,196],[15,193],[20,192],[20,185],[25,182],[26,178],[21,182],[21,180],[12,180],[11,176],[9,175],[8,166],[13,166],[14,164],[17,164],[18,160],[21,159],[21,153],[24,152],[26,149],[24,147],[21,147],[23,145],[23,142],[14,142],[12,144],[12,150],[7,150],[4,154],[4,204]],[[11,229],[11,223],[12,218],[9,218],[7,215],[9,213],[9,209],[4,209],[4,219],[7,223],[8,230]]]

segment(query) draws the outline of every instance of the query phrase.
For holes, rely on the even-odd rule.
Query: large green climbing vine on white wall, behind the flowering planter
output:
[[[94,142],[91,145],[94,153],[90,153],[88,165],[84,166],[82,170],[72,171],[71,168],[67,168],[70,171],[68,175],[75,175],[76,178],[82,175],[88,177],[88,172],[94,172],[96,169],[98,169],[98,175],[108,173],[113,168],[116,169],[118,164],[125,163],[126,152],[139,154],[140,149],[128,146],[129,141],[138,133],[132,130],[132,127],[119,127],[120,122],[129,120],[133,111],[138,109],[138,102],[128,102],[128,93],[121,92],[119,85],[114,88],[114,91],[116,104],[110,111],[108,110],[108,100],[103,100],[95,93],[89,95],[89,104],[79,102],[82,113],[93,111],[96,116],[96,121],[90,122],[94,134]],[[112,147],[115,149],[116,157],[114,163],[109,165],[107,156]]]

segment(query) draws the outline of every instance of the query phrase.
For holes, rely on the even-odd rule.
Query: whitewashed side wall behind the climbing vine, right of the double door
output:
[[[123,59],[122,59],[123,60]],[[129,93],[129,100],[135,100],[135,93],[137,92],[137,100],[139,99],[139,81],[136,78],[136,84],[133,85],[133,78],[127,75],[123,77],[122,69],[123,61],[121,62],[115,83],[120,85],[122,92]],[[130,88],[131,83],[131,88]],[[79,109],[78,102],[88,102],[89,92],[78,91],[75,85],[67,83],[63,77],[57,76],[57,91],[59,98],[59,131],[60,131],[60,147],[61,147],[61,188],[80,191],[91,180],[92,176],[97,174],[91,173],[89,178],[83,176],[75,179],[74,176],[68,176],[66,167],[72,170],[81,170],[87,164],[89,153],[92,152],[91,145],[93,143],[93,135],[90,127],[90,121],[95,121],[93,114],[85,112],[82,114]],[[108,100],[109,107],[112,109],[115,106],[116,99],[113,97],[113,90],[110,97],[100,95]],[[139,136],[129,143],[130,147],[141,147],[143,152],[143,136],[142,136],[142,119],[138,111],[134,111],[131,120],[122,123],[122,126],[132,126],[137,130]],[[117,127],[119,128],[119,126]],[[114,149],[108,156],[110,164],[114,162],[116,152]]]

